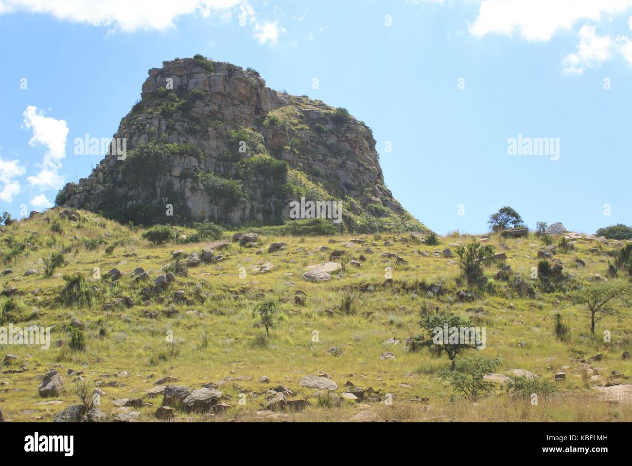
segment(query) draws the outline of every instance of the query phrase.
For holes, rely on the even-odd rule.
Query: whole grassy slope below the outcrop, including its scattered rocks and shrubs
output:
[[[0,325],[52,327],[50,349],[0,345],[5,420],[97,393],[92,420],[632,421],[629,242],[176,228],[64,208],[3,227]],[[619,290],[594,334],[590,290]],[[486,330],[454,364],[420,325],[450,314]]]

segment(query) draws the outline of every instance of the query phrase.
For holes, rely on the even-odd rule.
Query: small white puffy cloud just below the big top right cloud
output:
[[[583,26],[578,35],[577,52],[562,59],[562,71],[569,75],[581,75],[584,69],[603,63],[611,57],[614,45],[609,35],[597,35],[594,26]]]

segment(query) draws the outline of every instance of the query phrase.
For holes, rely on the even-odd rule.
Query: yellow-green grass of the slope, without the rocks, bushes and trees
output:
[[[161,269],[167,265],[173,270],[174,251],[182,251],[179,260],[186,261],[191,254],[201,253],[207,242],[154,246],[142,239],[142,229],[123,227],[90,212],[79,211],[76,219],[60,218],[59,212],[49,210],[40,217],[15,222],[3,227],[0,234],[3,258],[16,250],[16,244],[25,246],[0,270],[8,269],[0,277],[0,289],[16,289],[13,295],[0,298],[4,309],[1,325],[54,326],[49,350],[0,347],[0,357],[17,356],[4,364],[0,374],[0,410],[5,419],[52,421],[68,405],[78,404],[74,392],[79,381],[74,380],[83,377],[104,392],[99,407],[108,418],[121,412],[113,400],[140,397],[142,407],[134,408],[140,412],[140,420],[155,421],[162,395],[151,397],[145,391],[171,376],[173,381],[159,386],[176,384],[193,390],[213,382],[223,394],[222,401],[231,406],[216,415],[176,409],[176,421],[347,421],[359,413],[363,414],[356,419],[632,421],[632,392],[626,391],[632,360],[621,357],[624,350],[632,350],[630,309],[623,303],[614,304],[621,314],[599,321],[592,337],[585,327],[585,308],[571,304],[567,296],[573,289],[602,282],[595,274],[606,277],[609,258],[603,253],[623,246],[616,241],[604,244],[580,239],[568,253],[557,248],[554,260],[560,260],[564,274],[573,277],[567,276],[553,292],[542,292],[530,274],[538,266],[538,249],[547,245],[532,234],[520,239],[492,234],[484,240],[496,253],[505,252],[506,260],[484,268],[489,278],[485,287],[469,289],[461,278],[455,250],[459,244],[480,241],[480,237],[455,234],[440,237],[437,246],[427,246],[407,234],[260,236],[258,246],[250,248],[232,242],[231,232],[223,238],[230,243],[228,248],[215,251],[223,254],[223,260],[188,267],[188,276],[176,274],[161,295],[143,303],[142,290],[154,286],[154,279],[164,273]],[[191,231],[179,233],[190,235]],[[364,243],[351,243],[351,239]],[[554,244],[559,241],[559,237],[552,239]],[[269,252],[273,242],[286,246]],[[374,252],[365,252],[367,248]],[[446,248],[452,258],[442,253]],[[258,249],[262,252],[257,253]],[[301,279],[306,266],[329,261],[334,250],[345,251],[343,257],[360,266],[343,259],[339,261],[343,269],[332,272],[332,280],[312,283]],[[440,251],[439,257],[434,256],[435,250]],[[404,261],[383,256],[383,252],[395,253]],[[63,253],[63,263],[46,277],[44,261],[53,253]],[[360,254],[365,260],[360,261]],[[575,258],[583,260],[585,267],[576,265]],[[269,272],[258,272],[262,262],[272,263]],[[509,285],[511,281],[495,278],[506,265],[520,273],[535,295],[520,297]],[[139,266],[148,273],[147,282],[133,279],[132,272]],[[113,285],[107,278],[112,268],[125,273]],[[392,282],[385,282],[387,268]],[[36,272],[25,276],[29,270]],[[100,278],[93,278],[97,272]],[[66,294],[70,298],[64,301],[63,275],[74,273],[87,278],[82,296],[89,303],[75,304],[72,298],[78,299],[78,294],[73,293]],[[607,280],[612,285],[630,286],[623,271]],[[178,290],[183,290],[185,301],[178,299],[182,296]],[[297,290],[307,295],[302,304],[295,300]],[[123,300],[114,301],[125,297],[131,297],[127,305]],[[258,315],[253,314],[255,306],[267,299],[278,303],[281,315],[268,336]],[[406,339],[420,333],[421,316],[437,308],[471,318],[473,325],[486,328],[485,349],[458,358],[500,356],[496,373],[530,371],[550,381],[555,393],[540,397],[537,405],[528,398],[511,397],[501,387],[477,402],[454,397],[452,388],[438,377],[442,368],[450,366],[446,355],[406,349]],[[566,341],[554,335],[556,313],[569,326]],[[67,327],[75,318],[86,338],[83,350],[70,348]],[[603,341],[604,330],[611,333],[610,342]],[[392,344],[390,338],[398,343]],[[328,352],[332,347],[341,354]],[[380,359],[385,352],[396,359]],[[597,354],[602,357],[590,359]],[[38,394],[40,379],[51,368],[61,374],[64,392],[42,398]],[[83,373],[69,375],[68,369]],[[566,379],[553,381],[560,371]],[[622,374],[612,376],[612,371]],[[298,385],[301,377],[319,374],[337,383],[334,393],[351,390],[345,386],[350,381],[362,389],[365,398],[341,399],[336,405],[334,395],[316,398],[316,389]],[[260,381],[262,376],[269,383]],[[595,389],[613,381],[618,385],[612,390],[627,393],[627,402],[609,401],[609,390]],[[279,385],[295,392],[288,398],[307,398],[311,405],[303,412],[257,414],[268,405],[268,390]],[[367,390],[369,387],[373,390]],[[240,398],[240,393],[245,396]],[[385,402],[391,399],[387,394],[392,394],[391,404]]]

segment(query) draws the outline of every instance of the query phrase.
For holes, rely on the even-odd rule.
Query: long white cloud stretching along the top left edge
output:
[[[235,9],[239,11],[239,25],[252,27],[261,44],[276,43],[279,27],[267,21],[260,23],[247,0],[0,0],[0,15],[46,13],[59,20],[108,27],[110,31],[120,28],[126,33],[164,31],[175,27],[179,16],[184,15],[212,16],[228,22]]]

